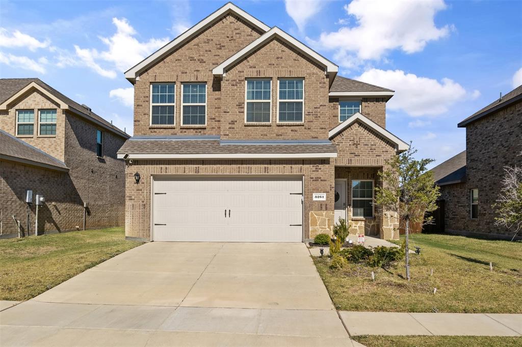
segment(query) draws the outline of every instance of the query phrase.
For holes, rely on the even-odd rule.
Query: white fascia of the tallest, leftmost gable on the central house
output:
[[[192,28],[188,29],[181,35],[177,36],[174,40],[169,42],[168,44],[164,45],[158,51],[152,53],[150,56],[145,58],[144,60],[140,61],[137,65],[133,66],[129,70],[125,71],[125,78],[132,81],[135,80],[138,77],[138,72],[145,69],[147,66],[155,63],[157,60],[161,59],[165,54],[168,54],[169,52],[173,51],[175,48],[179,47],[183,43],[191,40],[194,36],[199,34],[201,31],[205,30],[209,26],[211,26],[216,20],[223,17],[224,15],[228,13],[234,13],[235,15],[238,15],[239,17],[243,18],[246,22],[252,24],[254,27],[263,30],[268,31],[270,30],[270,27],[267,26],[262,21],[258,20],[257,18],[254,18],[253,16],[247,14],[245,11],[243,11],[238,6],[235,6],[232,3],[227,3],[223,7],[216,10],[214,13],[209,15],[208,17],[201,20],[199,23],[197,23]]]

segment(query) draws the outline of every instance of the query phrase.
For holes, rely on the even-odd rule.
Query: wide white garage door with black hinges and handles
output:
[[[301,242],[302,178],[155,177],[155,241]]]

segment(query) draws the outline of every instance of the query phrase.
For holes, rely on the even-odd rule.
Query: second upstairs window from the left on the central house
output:
[[[207,84],[182,83],[181,125],[207,124]]]

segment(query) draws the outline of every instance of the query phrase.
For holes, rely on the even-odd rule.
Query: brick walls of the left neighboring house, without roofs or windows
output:
[[[56,136],[38,135],[38,110],[56,109]],[[94,123],[60,109],[39,91],[23,96],[10,110],[0,114],[0,128],[16,134],[16,110],[34,109],[34,134],[18,137],[63,161],[68,172],[21,165],[2,160],[0,208],[3,234],[17,233],[15,215],[26,229],[26,190],[43,194],[45,204],[39,208],[39,233],[69,231],[83,227],[84,202],[89,203],[86,228],[124,225],[125,164],[116,158],[125,139],[104,131]],[[103,131],[104,158],[96,156],[96,130]],[[31,234],[34,232],[35,206],[31,207]]]

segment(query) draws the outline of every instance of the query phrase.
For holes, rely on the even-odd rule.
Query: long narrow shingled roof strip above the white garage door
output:
[[[222,144],[219,140],[131,139],[118,154],[297,154],[337,153],[334,144]]]

